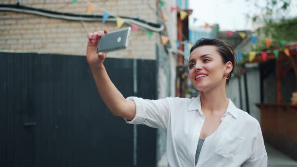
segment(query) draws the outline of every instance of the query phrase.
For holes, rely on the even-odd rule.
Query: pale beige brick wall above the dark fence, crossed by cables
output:
[[[23,0],[22,5],[75,14],[87,14],[88,3],[78,0],[41,1]],[[147,0],[93,0],[96,8],[92,14],[102,15],[103,10],[113,16],[139,17],[142,20],[157,22],[156,1]],[[1,4],[16,4],[17,1],[2,1]],[[125,24],[123,27],[129,25]],[[117,30],[115,22],[66,21],[33,14],[0,12],[0,50],[40,53],[85,55],[88,32],[102,29]],[[148,38],[145,29],[131,32],[128,49],[109,53],[109,57],[156,58],[158,33]]]

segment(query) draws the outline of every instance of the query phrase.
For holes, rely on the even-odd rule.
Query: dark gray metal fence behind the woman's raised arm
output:
[[[107,58],[124,95],[156,99],[156,62]],[[133,125],[112,116],[84,56],[0,53],[0,166],[133,166]],[[156,129],[137,126],[137,166],[156,165]]]

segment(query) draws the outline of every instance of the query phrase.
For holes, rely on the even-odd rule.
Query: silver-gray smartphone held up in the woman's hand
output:
[[[104,34],[98,42],[97,53],[126,49],[130,32],[131,28],[127,27]]]

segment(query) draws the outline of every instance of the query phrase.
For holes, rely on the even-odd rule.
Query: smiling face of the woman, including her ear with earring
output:
[[[197,47],[189,58],[189,77],[198,91],[207,92],[221,84],[225,86],[224,73],[231,70],[232,63],[223,63],[216,46]]]

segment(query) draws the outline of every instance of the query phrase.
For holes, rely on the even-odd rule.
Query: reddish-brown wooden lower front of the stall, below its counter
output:
[[[264,141],[297,160],[297,105],[257,104]]]

